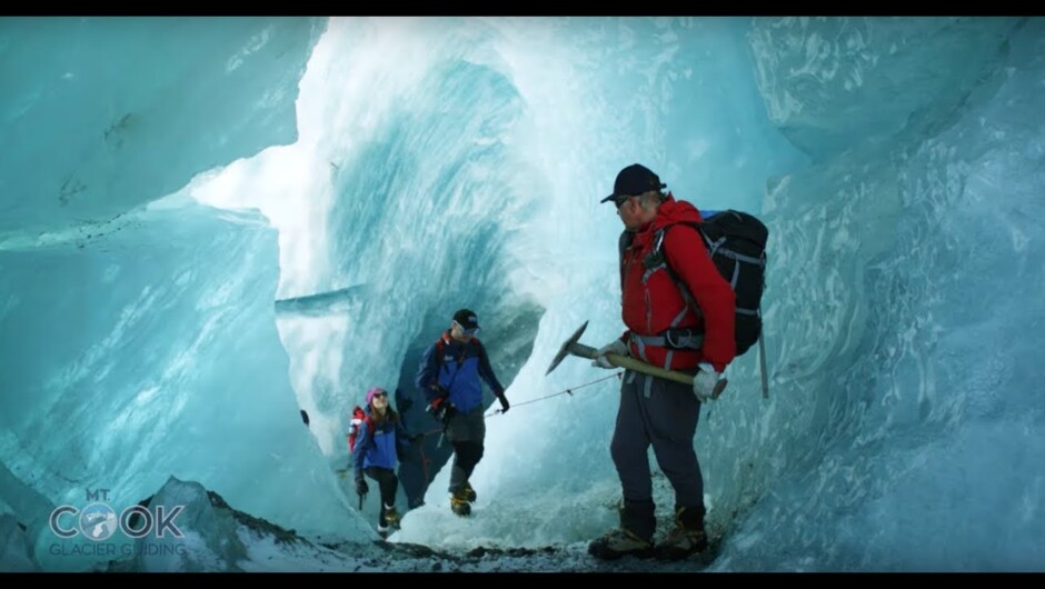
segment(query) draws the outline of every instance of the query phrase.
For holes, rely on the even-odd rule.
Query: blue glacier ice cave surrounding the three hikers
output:
[[[1045,570],[1039,18],[4,18],[0,72],[0,570]],[[585,553],[617,381],[545,373],[623,329],[633,162],[770,231],[671,565]],[[410,383],[460,307],[512,402],[468,519]],[[372,386],[432,479],[378,545]]]

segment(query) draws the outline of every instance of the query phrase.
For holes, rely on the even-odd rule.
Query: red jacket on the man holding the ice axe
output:
[[[729,282],[718,273],[707,254],[704,240],[695,229],[679,226],[667,231],[660,251],[667,263],[689,289],[704,317],[688,309],[681,292],[663,267],[646,274],[644,258],[653,251],[654,233],[678,222],[701,222],[700,212],[686,201],[677,201],[668,193],[660,203],[657,217],[636,232],[631,246],[625,250],[620,263],[623,276],[623,316],[628,333],[658,336],[671,327],[671,321],[686,309],[676,327],[704,328],[704,347],[700,350],[674,350],[670,366],[665,366],[667,352],[661,347],[646,347],[646,361],[671,370],[695,369],[703,361],[710,362],[721,372],[736,356],[734,320],[736,296]],[[630,345],[631,356],[640,358],[638,346]]]

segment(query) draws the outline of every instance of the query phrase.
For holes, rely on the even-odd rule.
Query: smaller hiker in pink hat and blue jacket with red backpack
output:
[[[367,417],[357,426],[352,463],[356,468],[356,493],[360,497],[370,490],[364,473],[377,481],[381,492],[381,512],[377,530],[385,535],[389,528],[399,528],[396,510],[396,493],[399,478],[396,467],[399,452],[405,452],[414,441],[402,427],[399,413],[388,405],[388,391],[374,387],[367,391]]]

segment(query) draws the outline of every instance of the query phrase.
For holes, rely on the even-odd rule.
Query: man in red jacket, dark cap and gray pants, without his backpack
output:
[[[701,222],[700,212],[677,201],[666,184],[635,163],[620,170],[613,194],[625,226],[620,286],[624,335],[599,349],[595,365],[614,368],[606,353],[694,375],[693,387],[628,370],[610,453],[620,477],[620,528],[593,541],[596,558],[625,555],[685,558],[707,548],[704,531],[704,479],[693,448],[700,403],[713,398],[726,365],[736,353],[736,300],[718,273],[700,233],[681,224]],[[670,272],[700,309],[687,305]],[[647,450],[653,445],[660,469],[675,488],[675,529],[658,545],[653,481]]]

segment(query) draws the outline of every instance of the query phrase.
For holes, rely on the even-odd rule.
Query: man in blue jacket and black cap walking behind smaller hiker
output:
[[[508,411],[508,398],[501,387],[486,348],[477,338],[479,320],[469,309],[454,313],[450,328],[425,350],[415,385],[429,401],[429,409],[442,421],[447,439],[454,446],[450,469],[450,509],[458,516],[471,513],[476,491],[468,479],[482,459],[486,422],[482,417],[482,381]]]

